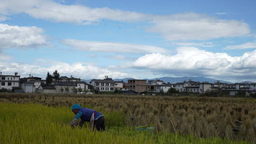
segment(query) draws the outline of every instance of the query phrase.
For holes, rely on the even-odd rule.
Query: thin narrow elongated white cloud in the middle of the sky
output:
[[[65,39],[63,43],[72,46],[78,50],[90,52],[128,54],[169,53],[168,50],[153,45],[135,45],[114,42],[82,41],[75,39]]]

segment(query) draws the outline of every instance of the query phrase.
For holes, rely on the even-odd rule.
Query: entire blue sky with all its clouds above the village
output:
[[[0,0],[0,71],[256,81],[256,1]]]

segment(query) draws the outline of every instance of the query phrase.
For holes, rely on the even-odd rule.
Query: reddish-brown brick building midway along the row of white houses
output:
[[[128,90],[134,90],[137,92],[146,91],[146,80],[128,80]]]

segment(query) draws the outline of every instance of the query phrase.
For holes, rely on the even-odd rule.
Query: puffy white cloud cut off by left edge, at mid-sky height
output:
[[[18,27],[0,24],[1,48],[37,48],[47,45],[44,30],[38,27]]]

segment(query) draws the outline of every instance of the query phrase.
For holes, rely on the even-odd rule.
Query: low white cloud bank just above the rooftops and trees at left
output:
[[[107,68],[101,68],[94,65],[83,65],[82,63],[62,63],[53,62],[49,66],[39,66],[36,64],[23,63],[0,63],[0,71],[6,74],[19,72],[22,77],[32,74],[34,76],[46,77],[47,72],[57,70],[61,75],[73,75],[82,79],[103,79],[105,75],[111,78],[126,77],[128,74],[118,71],[112,71]]]

